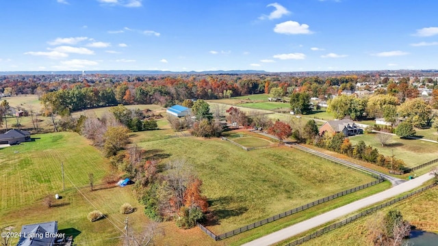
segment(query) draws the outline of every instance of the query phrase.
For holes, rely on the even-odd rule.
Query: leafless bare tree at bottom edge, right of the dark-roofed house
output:
[[[159,234],[164,234],[164,230],[159,227],[159,223],[155,221],[151,221],[148,223],[141,232],[133,232],[132,230],[128,230],[127,234],[125,234],[125,243],[124,246],[147,246],[153,245],[154,237]]]

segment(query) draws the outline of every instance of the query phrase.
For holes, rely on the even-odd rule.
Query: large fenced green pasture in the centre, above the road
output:
[[[210,229],[218,234],[374,180],[287,147],[247,152],[228,141],[195,137],[138,145],[149,158],[194,165],[219,222]]]

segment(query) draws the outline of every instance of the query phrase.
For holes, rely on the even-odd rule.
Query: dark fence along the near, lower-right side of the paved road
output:
[[[393,200],[391,200],[391,201],[389,201],[389,202],[386,202],[385,204],[380,204],[380,205],[378,205],[378,206],[374,206],[374,207],[372,207],[372,208],[369,208],[369,209],[367,209],[367,210],[365,210],[365,211],[363,211],[363,212],[361,212],[361,213],[359,213],[359,214],[357,214],[357,215],[354,215],[354,216],[352,216],[352,217],[349,217],[349,218],[347,218],[347,219],[344,219],[343,221],[340,221],[340,222],[334,223],[334,224],[332,224],[332,225],[330,225],[330,226],[326,226],[325,228],[322,228],[321,230],[318,230],[318,231],[316,231],[316,232],[313,232],[312,234],[309,234],[309,235],[307,235],[307,236],[305,236],[305,237],[303,237],[303,238],[300,238],[300,239],[298,239],[298,240],[296,240],[296,241],[293,241],[292,243],[288,243],[288,244],[285,245],[285,246],[296,246],[296,245],[300,245],[300,244],[302,244],[302,243],[305,243],[305,242],[311,240],[312,238],[315,238],[315,237],[318,237],[318,236],[322,236],[322,234],[325,234],[325,233],[327,233],[327,232],[330,232],[330,231],[332,231],[332,230],[335,230],[335,229],[337,229],[337,228],[339,228],[339,227],[341,227],[341,226],[345,226],[346,224],[351,223],[352,221],[355,221],[355,220],[357,220],[357,219],[359,219],[359,218],[361,218],[361,217],[364,217],[364,216],[366,216],[366,215],[369,215],[369,214],[371,214],[371,213],[374,213],[374,212],[376,212],[377,210],[380,210],[380,209],[382,209],[382,208],[385,208],[385,207],[387,207],[387,206],[390,206],[390,205],[392,205],[392,204],[395,204],[396,202],[400,202],[400,201],[402,201],[402,200],[405,200],[405,199],[407,199],[407,198],[409,198],[409,197],[411,197],[411,196],[413,196],[413,195],[416,195],[417,193],[421,193],[421,192],[423,192],[423,191],[426,191],[427,189],[430,189],[430,188],[432,188],[432,187],[435,187],[436,185],[437,185],[437,184],[430,184],[430,185],[428,185],[427,187],[423,187],[422,189],[418,189],[417,191],[413,191],[413,192],[411,192],[411,193],[409,193],[409,194],[407,194],[407,195],[403,195],[402,197],[398,197],[398,198],[396,198],[396,199],[393,199]]]

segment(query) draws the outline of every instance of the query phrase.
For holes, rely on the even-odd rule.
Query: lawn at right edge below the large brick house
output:
[[[415,167],[428,161],[438,158],[438,143],[422,141],[421,139],[400,139],[398,136],[392,136],[388,141],[387,146],[382,147],[381,143],[376,139],[377,133],[368,133],[350,137],[350,142],[355,145],[363,140],[367,145],[371,145],[378,149],[378,152],[402,159],[407,167]]]

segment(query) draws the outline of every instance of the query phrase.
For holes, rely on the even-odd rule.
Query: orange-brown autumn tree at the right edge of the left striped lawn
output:
[[[125,148],[129,141],[129,130],[125,126],[110,126],[103,135],[103,151],[105,156],[114,156],[119,150]]]

